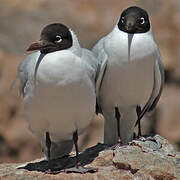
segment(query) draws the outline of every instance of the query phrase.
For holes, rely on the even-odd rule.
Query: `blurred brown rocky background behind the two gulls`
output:
[[[122,10],[132,5],[149,12],[166,70],[176,77],[163,90],[157,116],[142,120],[143,134],[153,130],[180,148],[179,0],[0,0],[0,163],[42,156],[40,143],[28,130],[17,88],[9,91],[25,49],[39,38],[40,29],[52,22],[65,23],[76,32],[83,47],[91,48],[112,30]],[[103,118],[99,115],[81,137],[81,150],[102,139]]]

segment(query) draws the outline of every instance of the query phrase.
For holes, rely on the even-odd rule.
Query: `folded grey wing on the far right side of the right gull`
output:
[[[151,96],[150,96],[148,102],[142,109],[140,117],[139,117],[138,121],[136,122],[136,125],[138,124],[138,122],[142,119],[142,117],[147,112],[151,112],[154,110],[154,108],[156,107],[156,105],[160,99],[160,96],[162,94],[163,86],[164,86],[164,67],[163,67],[161,56],[160,56],[160,53],[158,50],[157,60],[156,60],[155,67],[154,67],[153,91],[151,93]]]

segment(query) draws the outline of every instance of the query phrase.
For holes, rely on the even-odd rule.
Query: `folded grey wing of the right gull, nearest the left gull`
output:
[[[103,39],[101,39],[96,45],[95,47],[92,49],[93,53],[96,55],[97,57],[97,61],[98,61],[98,69],[97,69],[97,73],[96,73],[96,114],[101,113],[101,107],[99,104],[99,91],[101,88],[101,84],[103,81],[103,77],[106,71],[106,66],[107,66],[107,59],[108,56],[104,50],[103,47]]]

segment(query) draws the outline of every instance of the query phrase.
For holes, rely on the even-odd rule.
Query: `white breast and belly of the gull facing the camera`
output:
[[[153,88],[155,48],[151,32],[128,36],[115,28],[105,41],[105,50],[108,65],[101,88],[102,104],[144,106]]]

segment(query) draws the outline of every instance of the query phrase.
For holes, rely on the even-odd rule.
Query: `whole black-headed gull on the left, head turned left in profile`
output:
[[[59,23],[47,25],[27,51],[37,52],[20,63],[17,78],[29,129],[41,141],[49,169],[50,160],[67,155],[73,143],[79,161],[78,135],[95,113],[98,62],[80,47],[75,33]],[[88,171],[78,162],[71,170]]]

